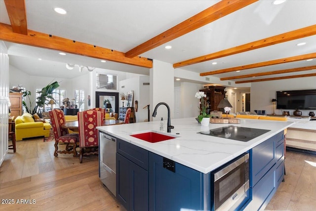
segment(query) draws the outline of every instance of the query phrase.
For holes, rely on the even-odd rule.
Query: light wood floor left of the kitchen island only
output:
[[[0,167],[0,211],[125,211],[99,178],[98,156],[54,157],[54,142],[42,138],[16,142]],[[12,153],[11,153],[12,151]],[[17,200],[35,204],[16,204]]]

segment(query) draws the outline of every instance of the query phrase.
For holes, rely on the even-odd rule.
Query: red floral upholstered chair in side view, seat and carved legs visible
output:
[[[59,109],[54,109],[49,111],[49,117],[55,136],[54,156],[57,157],[58,153],[61,153],[74,154],[74,157],[77,157],[76,147],[77,142],[79,142],[79,134],[69,134],[67,129],[62,128],[62,125],[65,124],[64,112]],[[66,143],[66,149],[64,151],[58,151],[58,143]]]

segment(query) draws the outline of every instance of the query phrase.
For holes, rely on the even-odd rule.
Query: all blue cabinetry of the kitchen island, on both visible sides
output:
[[[284,178],[283,131],[249,151],[250,200],[262,210]],[[201,173],[118,139],[117,199],[128,211],[212,211],[210,173]]]

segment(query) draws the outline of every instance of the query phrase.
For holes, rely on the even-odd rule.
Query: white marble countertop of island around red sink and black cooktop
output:
[[[252,119],[240,119],[240,121],[241,124],[210,123],[209,127],[202,127],[195,118],[173,119],[171,125],[174,126],[174,129],[171,129],[171,133],[164,132],[163,134],[177,136],[177,138],[157,143],[150,143],[130,135],[148,131],[159,133],[159,121],[97,128],[162,157],[200,172],[208,173],[294,124],[293,122]],[[248,142],[197,134],[197,132],[229,125],[269,129],[271,131]]]

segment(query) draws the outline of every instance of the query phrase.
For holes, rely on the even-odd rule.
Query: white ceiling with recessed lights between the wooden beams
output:
[[[28,29],[126,52],[218,2],[218,0],[25,0]],[[54,7],[67,10],[66,15]],[[316,0],[287,0],[274,5],[259,0],[180,38],[149,50],[140,56],[177,63],[316,24]],[[5,4],[0,0],[0,22],[10,24]],[[306,42],[296,46],[299,42]],[[79,55],[6,42],[10,64],[30,75],[74,78],[65,63],[149,75],[149,70]],[[171,45],[167,50],[165,45]],[[209,72],[263,61],[316,52],[316,36],[283,42],[223,58],[182,67],[196,73]],[[38,58],[42,60],[39,61]],[[217,62],[212,65],[212,62]],[[284,63],[239,73],[213,75],[223,78],[251,73],[316,65],[313,61]],[[315,73],[315,70],[262,76],[256,79]],[[238,79],[235,81],[244,81]]]

